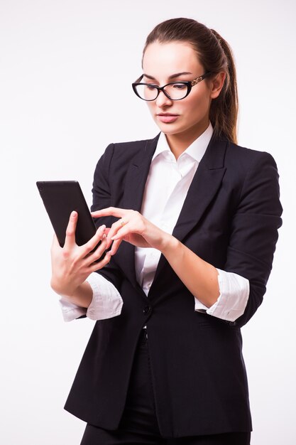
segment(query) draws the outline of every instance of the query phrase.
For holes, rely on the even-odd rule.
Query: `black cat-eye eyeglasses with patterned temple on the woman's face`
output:
[[[143,100],[155,100],[160,91],[162,91],[163,94],[170,100],[181,100],[189,95],[194,85],[202,82],[202,80],[204,80],[205,77],[208,77],[210,74],[212,73],[208,71],[207,73],[204,73],[199,77],[195,77],[195,79],[189,80],[188,82],[170,82],[163,87],[158,87],[158,85],[154,85],[153,83],[141,83],[141,80],[144,77],[142,74],[141,77],[139,77],[136,82],[133,82],[131,85],[136,95]]]

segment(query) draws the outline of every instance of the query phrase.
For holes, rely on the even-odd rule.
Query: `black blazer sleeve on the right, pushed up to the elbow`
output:
[[[263,301],[270,275],[278,228],[282,225],[278,170],[268,153],[257,152],[241,189],[231,223],[225,272],[248,279],[250,291],[243,314],[232,322],[241,327]]]

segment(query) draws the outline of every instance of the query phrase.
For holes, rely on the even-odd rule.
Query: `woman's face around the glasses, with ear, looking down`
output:
[[[205,73],[196,51],[190,43],[150,43],[143,57],[144,77],[141,82],[163,87],[169,82],[192,80]],[[223,85],[223,82],[222,82]],[[221,90],[221,88],[220,88]],[[156,100],[147,102],[150,112],[160,130],[182,139],[198,137],[209,125],[209,107],[216,97],[212,80],[202,80],[192,87],[182,100],[170,100],[160,92]]]

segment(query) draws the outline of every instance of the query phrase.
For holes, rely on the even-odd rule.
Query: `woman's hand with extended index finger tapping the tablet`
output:
[[[101,218],[102,216],[120,218],[105,231],[108,232],[107,248],[113,241],[111,247],[112,255],[117,252],[121,241],[130,242],[136,247],[153,247],[161,251],[171,237],[167,232],[146,220],[136,210],[109,207],[92,212],[92,217],[94,218]]]

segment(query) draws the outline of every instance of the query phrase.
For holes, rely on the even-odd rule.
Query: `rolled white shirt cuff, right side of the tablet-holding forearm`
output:
[[[124,301],[111,282],[97,272],[92,272],[87,282],[92,287],[92,302],[86,312],[88,318],[104,320],[121,314]]]

